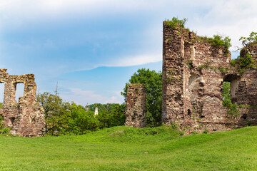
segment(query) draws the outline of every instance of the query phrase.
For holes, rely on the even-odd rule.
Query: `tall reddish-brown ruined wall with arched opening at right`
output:
[[[243,48],[257,58],[257,46]],[[223,131],[257,125],[257,72],[238,73],[231,53],[212,46],[185,28],[163,22],[163,123],[176,123],[186,133]],[[227,68],[226,71],[223,68]],[[222,104],[223,81],[231,82],[231,99],[241,106],[240,116],[229,118]]]

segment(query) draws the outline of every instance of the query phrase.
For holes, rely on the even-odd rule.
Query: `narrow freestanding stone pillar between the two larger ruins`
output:
[[[143,128],[146,126],[146,87],[142,84],[129,84],[126,96],[125,126]]]

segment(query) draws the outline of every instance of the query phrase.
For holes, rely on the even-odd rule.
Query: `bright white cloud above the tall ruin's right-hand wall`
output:
[[[208,2],[210,3],[208,6],[211,8],[205,15],[196,16],[190,26],[201,36],[212,36],[217,33],[229,36],[233,45],[231,51],[234,51],[236,46],[241,47],[241,42],[238,41],[241,36],[248,36],[251,31],[256,31],[257,10],[255,7],[257,1]]]

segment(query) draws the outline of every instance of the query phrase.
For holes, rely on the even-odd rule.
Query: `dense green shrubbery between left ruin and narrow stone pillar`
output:
[[[76,103],[64,102],[59,95],[42,93],[36,100],[45,109],[46,131],[45,135],[82,135],[101,128],[124,125],[124,105],[98,104],[99,115],[94,115],[94,105],[89,105],[89,111]]]

